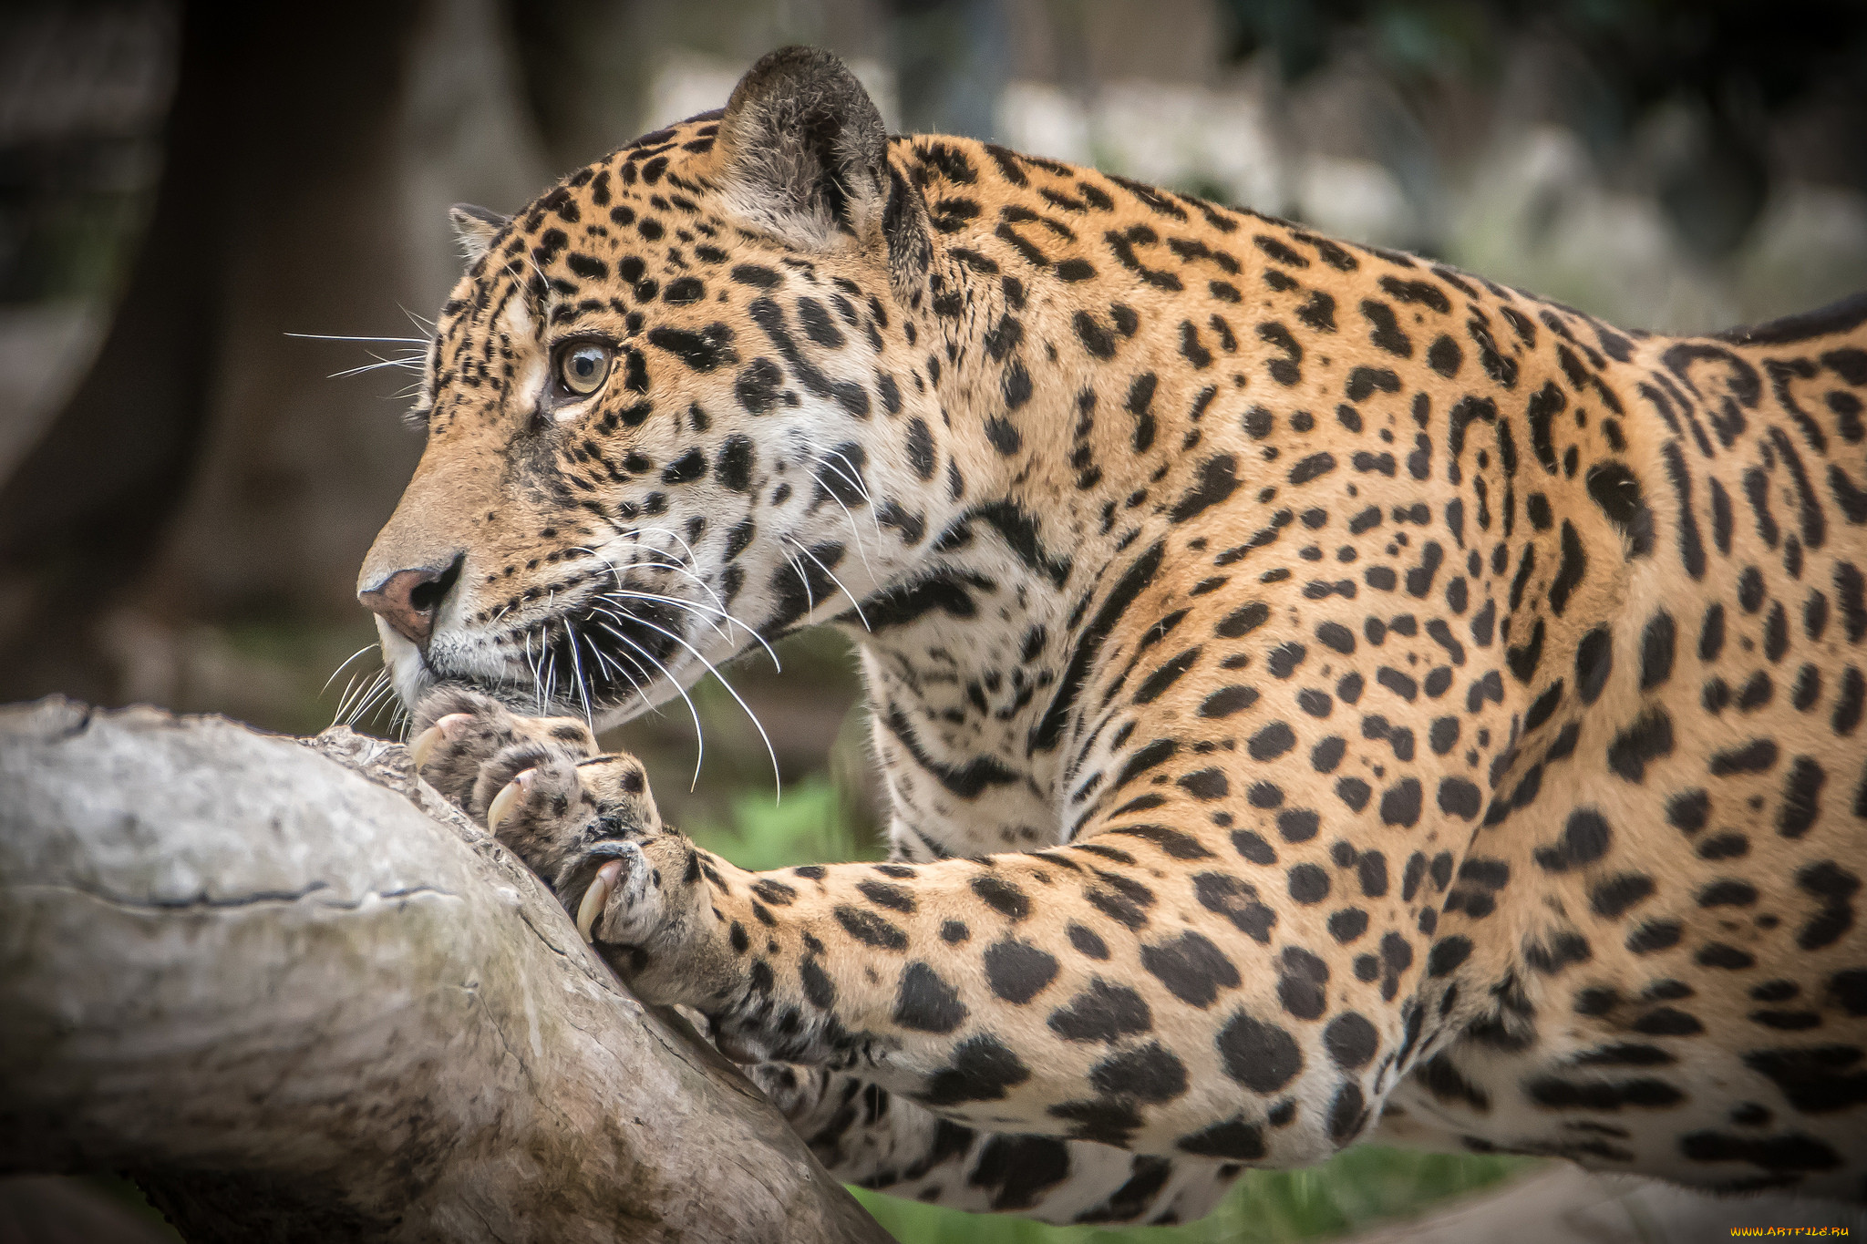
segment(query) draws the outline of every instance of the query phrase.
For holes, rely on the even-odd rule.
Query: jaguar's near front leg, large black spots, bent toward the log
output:
[[[1137,824],[751,873],[667,830],[566,832],[586,862],[560,897],[644,1000],[741,1061],[849,1071],[978,1132],[1296,1166],[1355,1140],[1423,1048],[1398,918],[1372,972],[1331,979],[1305,949],[1322,914],[1243,878],[1255,841]]]

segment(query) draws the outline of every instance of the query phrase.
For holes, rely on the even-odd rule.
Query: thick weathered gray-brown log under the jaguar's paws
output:
[[[192,1240],[887,1240],[407,752],[0,709],[0,1171]]]

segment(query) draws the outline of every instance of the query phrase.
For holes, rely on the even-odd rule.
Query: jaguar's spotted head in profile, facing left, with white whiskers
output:
[[[609,726],[939,530],[928,214],[833,56],[454,220],[428,444],[358,576],[405,703],[459,681]]]

